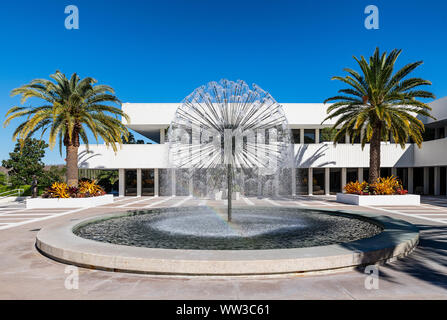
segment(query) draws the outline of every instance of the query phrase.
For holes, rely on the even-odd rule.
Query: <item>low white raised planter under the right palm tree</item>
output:
[[[417,194],[405,195],[368,195],[337,193],[337,202],[358,206],[419,206],[421,197]]]

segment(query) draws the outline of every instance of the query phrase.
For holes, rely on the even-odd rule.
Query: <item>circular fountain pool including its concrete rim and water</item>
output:
[[[371,213],[323,209],[166,208],[60,222],[36,247],[63,263],[170,275],[332,272],[409,254],[419,231]]]

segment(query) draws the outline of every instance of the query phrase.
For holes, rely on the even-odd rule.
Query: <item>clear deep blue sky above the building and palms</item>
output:
[[[369,4],[379,30],[364,27]],[[79,30],[64,27],[67,5],[79,8]],[[443,0],[1,1],[1,114],[19,102],[11,89],[57,69],[93,76],[123,102],[177,102],[221,78],[257,83],[280,102],[321,102],[339,89],[330,77],[376,46],[403,49],[399,66],[424,60],[416,75],[439,98],[446,31]],[[0,159],[17,123],[1,129]],[[45,161],[63,159],[54,150]]]

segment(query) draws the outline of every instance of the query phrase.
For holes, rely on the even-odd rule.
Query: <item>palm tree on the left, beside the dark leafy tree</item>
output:
[[[4,126],[12,119],[25,117],[13,133],[13,140],[25,141],[35,132],[42,136],[49,130],[49,145],[53,148],[59,139],[59,151],[62,145],[66,148],[67,184],[78,184],[78,148],[80,139],[87,145],[87,129],[95,136],[101,137],[105,144],[117,151],[117,144],[128,137],[127,128],[118,119],[129,117],[121,111],[114,90],[107,85],[96,85],[97,81],[87,77],[84,79],[74,73],[67,79],[63,73],[56,71],[50,75],[53,80],[35,79],[29,84],[12,90],[11,95],[21,95],[23,105],[29,98],[43,100],[38,107],[14,106],[6,113]]]

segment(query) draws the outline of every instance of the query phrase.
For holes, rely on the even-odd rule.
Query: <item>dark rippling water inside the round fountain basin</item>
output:
[[[254,250],[326,246],[379,234],[364,219],[297,208],[222,208],[135,211],[77,228],[76,235],[107,243],[167,249]]]

